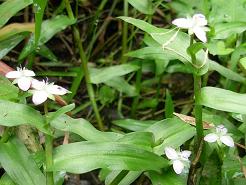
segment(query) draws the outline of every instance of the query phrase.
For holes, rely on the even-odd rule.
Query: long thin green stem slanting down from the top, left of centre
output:
[[[69,18],[73,19],[74,15],[73,15],[69,0],[66,0],[66,9],[67,9]],[[81,71],[78,73],[78,76],[76,78],[76,80],[78,81],[77,84],[78,85],[80,84],[80,82],[82,80],[83,73],[84,73],[87,92],[88,92],[93,110],[95,112],[95,116],[96,116],[96,119],[98,122],[99,129],[104,130],[104,125],[103,125],[103,122],[102,122],[102,119],[101,119],[101,116],[100,116],[100,113],[99,113],[99,110],[97,107],[97,103],[95,100],[94,89],[93,89],[93,86],[92,86],[91,80],[90,80],[90,74],[89,74],[89,69],[88,69],[88,65],[87,65],[87,63],[88,63],[87,57],[86,57],[84,48],[82,46],[79,30],[76,26],[73,26],[73,36],[74,36],[75,42],[79,48],[79,55],[80,55],[80,60],[81,60],[81,66],[80,66]]]

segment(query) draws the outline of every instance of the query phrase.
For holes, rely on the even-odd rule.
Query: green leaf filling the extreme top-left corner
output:
[[[32,0],[6,0],[0,5],[0,27],[2,27],[8,20],[17,12],[32,4]]]

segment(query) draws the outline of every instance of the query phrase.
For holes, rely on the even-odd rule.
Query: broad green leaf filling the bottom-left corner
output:
[[[45,185],[45,176],[25,145],[17,139],[0,143],[0,163],[18,185]]]

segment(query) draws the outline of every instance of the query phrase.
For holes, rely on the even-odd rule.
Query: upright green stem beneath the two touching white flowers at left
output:
[[[44,114],[48,114],[48,104],[44,103]],[[46,119],[47,120],[47,119]],[[46,122],[47,126],[50,127],[49,123]],[[53,136],[45,134],[45,159],[46,159],[46,170],[50,170],[53,166]],[[46,184],[54,185],[53,172],[46,172]]]

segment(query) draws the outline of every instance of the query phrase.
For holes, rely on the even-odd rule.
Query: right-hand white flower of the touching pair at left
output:
[[[54,85],[54,83],[48,83],[44,80],[38,81],[35,79],[32,80],[32,88],[33,90],[30,90],[29,92],[33,94],[32,101],[35,105],[45,102],[47,98],[55,100],[54,95],[64,95],[69,92],[61,86]]]

